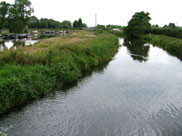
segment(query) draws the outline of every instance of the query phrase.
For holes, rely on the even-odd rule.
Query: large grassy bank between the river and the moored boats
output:
[[[111,60],[119,46],[110,33],[72,33],[0,54],[0,113],[77,81]]]

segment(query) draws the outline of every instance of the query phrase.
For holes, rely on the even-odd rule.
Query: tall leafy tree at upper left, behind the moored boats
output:
[[[22,32],[28,25],[32,12],[33,8],[29,0],[15,0],[15,4],[9,9],[10,32]]]

